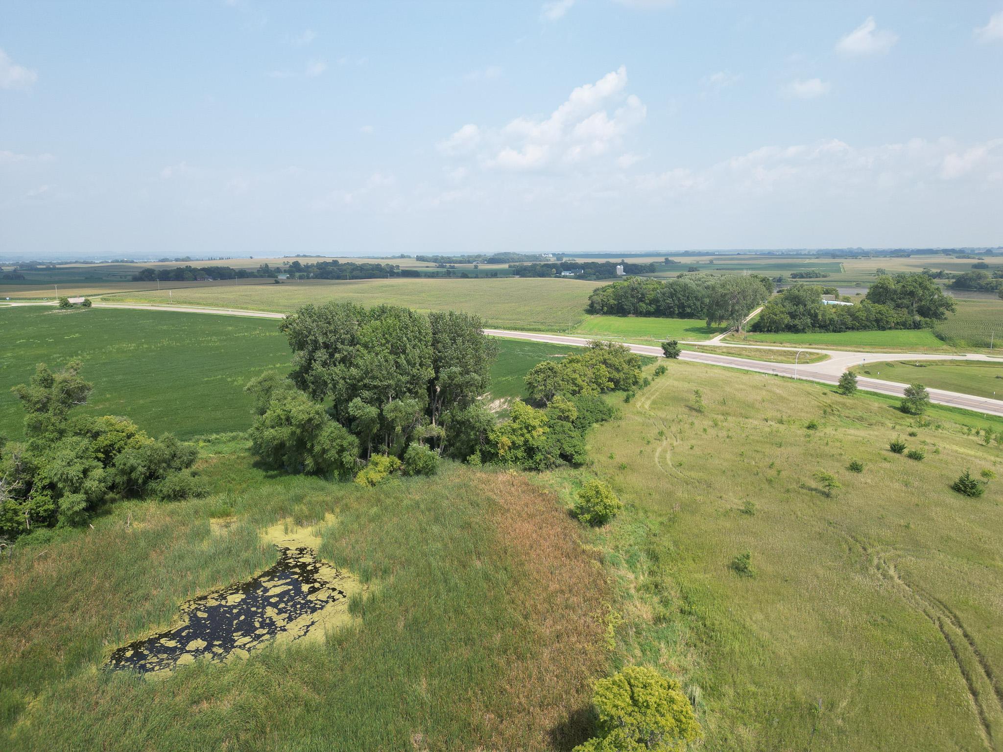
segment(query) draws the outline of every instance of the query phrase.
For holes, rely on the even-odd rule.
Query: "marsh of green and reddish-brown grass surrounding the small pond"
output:
[[[365,490],[276,477],[243,451],[204,469],[207,499],[116,504],[3,561],[5,748],[545,750],[588,734],[606,585],[523,477],[451,465]],[[328,512],[321,554],[371,588],[357,626],[161,681],[102,670],[181,601],[273,563],[261,528]],[[220,514],[236,519],[214,532]]]

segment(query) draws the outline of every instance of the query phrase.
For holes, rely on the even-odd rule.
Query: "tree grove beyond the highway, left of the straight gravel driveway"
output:
[[[726,322],[741,327],[745,317],[773,294],[773,281],[760,275],[686,275],[674,280],[632,278],[596,288],[589,313],[665,316]]]

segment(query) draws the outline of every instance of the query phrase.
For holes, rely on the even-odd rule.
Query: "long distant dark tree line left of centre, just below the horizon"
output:
[[[133,282],[196,282],[202,280],[275,279],[288,274],[297,279],[312,280],[373,280],[386,277],[420,277],[416,269],[401,269],[396,264],[319,261],[303,264],[298,259],[285,268],[261,264],[257,269],[207,266],[175,267],[174,269],[143,269],[132,275]]]

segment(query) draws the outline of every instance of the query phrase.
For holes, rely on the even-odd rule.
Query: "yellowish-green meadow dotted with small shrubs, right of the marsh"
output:
[[[934,408],[921,425],[895,404],[674,362],[590,434],[629,504],[596,535],[621,584],[619,652],[682,673],[704,749],[1001,738],[1003,480],[978,499],[949,486],[1003,473],[1000,447],[971,434],[1003,421]],[[896,436],[926,459],[891,453]],[[843,487],[826,495],[818,470]],[[743,551],[754,577],[729,569]]]

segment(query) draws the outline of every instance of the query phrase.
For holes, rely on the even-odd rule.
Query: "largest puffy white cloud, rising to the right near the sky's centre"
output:
[[[549,117],[517,117],[500,128],[468,123],[440,141],[438,149],[451,156],[476,155],[481,165],[507,170],[602,156],[618,148],[647,115],[644,103],[625,93],[626,85],[627,70],[621,66],[575,88]]]

